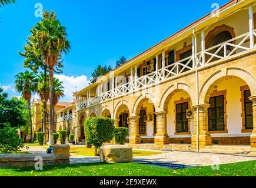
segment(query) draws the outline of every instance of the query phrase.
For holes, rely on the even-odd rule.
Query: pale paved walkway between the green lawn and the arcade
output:
[[[145,149],[140,149],[145,150]],[[160,151],[161,150],[149,150]],[[44,147],[30,146],[28,152],[46,153]],[[167,162],[175,164],[185,164],[186,166],[210,166],[212,164],[226,164],[235,162],[244,162],[248,160],[256,160],[256,152],[247,154],[224,154],[224,153],[197,153],[197,152],[164,152],[159,155],[134,157],[134,160],[144,160],[150,162]],[[70,162],[74,163],[97,163],[100,162],[99,157],[79,156],[71,153]]]

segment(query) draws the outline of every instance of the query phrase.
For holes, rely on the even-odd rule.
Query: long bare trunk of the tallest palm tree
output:
[[[49,75],[50,75],[50,114],[49,114],[49,145],[54,144],[54,121],[53,121],[53,105],[52,99],[54,96],[54,68],[49,68]]]

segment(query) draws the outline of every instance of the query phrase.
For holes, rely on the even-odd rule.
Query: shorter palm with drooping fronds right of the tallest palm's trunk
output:
[[[52,100],[53,109],[54,106],[59,102],[59,99],[64,97],[64,87],[62,86],[63,82],[60,82],[58,78],[54,78],[54,97]],[[55,112],[55,110],[53,110]],[[54,120],[54,113],[52,115]]]

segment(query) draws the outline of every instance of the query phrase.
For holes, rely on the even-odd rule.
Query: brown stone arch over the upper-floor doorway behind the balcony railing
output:
[[[209,46],[209,45],[210,45],[211,40],[215,36],[217,36],[219,33],[225,32],[225,31],[229,32],[230,35],[232,36],[232,38],[235,38],[234,28],[231,28],[228,25],[222,24],[222,25],[216,26],[214,29],[212,29],[210,32],[208,32],[207,36],[205,37],[205,47],[210,48],[211,46]],[[235,41],[233,41],[232,43],[235,43]]]

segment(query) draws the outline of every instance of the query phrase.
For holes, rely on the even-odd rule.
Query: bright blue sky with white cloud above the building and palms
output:
[[[20,96],[14,89],[14,76],[24,71],[23,52],[29,29],[40,21],[35,4],[54,10],[66,26],[71,51],[64,58],[65,97],[70,101],[75,86],[88,84],[98,65],[115,66],[121,56],[131,59],[179,29],[212,11],[211,5],[228,0],[17,0],[0,8],[0,86],[9,96]],[[36,97],[36,96],[35,96]]]

